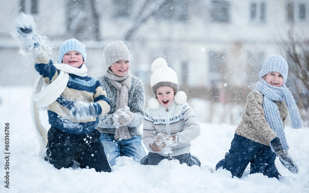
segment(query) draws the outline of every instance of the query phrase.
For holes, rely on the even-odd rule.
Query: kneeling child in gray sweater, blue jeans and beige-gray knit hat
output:
[[[111,110],[99,116],[97,129],[111,166],[119,156],[140,162],[146,155],[139,127],[143,121],[145,90],[140,78],[130,71],[130,52],[122,41],[109,43],[103,50],[107,70],[97,77],[107,91]]]

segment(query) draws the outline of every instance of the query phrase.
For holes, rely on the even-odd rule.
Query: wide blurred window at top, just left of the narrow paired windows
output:
[[[210,20],[227,23],[230,21],[230,4],[227,1],[212,1]]]

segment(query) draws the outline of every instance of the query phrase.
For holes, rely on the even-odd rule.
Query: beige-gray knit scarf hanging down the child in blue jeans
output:
[[[124,108],[128,105],[128,92],[131,88],[131,73],[130,71],[123,77],[116,75],[109,68],[105,73],[112,85],[117,89],[117,102],[116,109]],[[130,139],[128,126],[116,127],[115,129],[115,140]]]

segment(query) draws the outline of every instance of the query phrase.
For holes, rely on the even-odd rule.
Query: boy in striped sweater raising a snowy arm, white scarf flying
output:
[[[61,169],[72,167],[110,172],[111,168],[99,140],[98,115],[110,110],[109,100],[98,80],[87,76],[85,45],[76,39],[62,43],[59,62],[53,64],[40,46],[31,16],[21,15],[17,31],[28,46],[35,69],[48,85],[35,100],[48,106],[51,128],[48,131],[47,157],[50,164]]]

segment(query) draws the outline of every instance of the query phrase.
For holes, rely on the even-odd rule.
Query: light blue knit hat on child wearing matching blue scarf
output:
[[[260,78],[264,77],[268,72],[279,72],[283,76],[283,83],[288,77],[288,63],[278,54],[269,56],[260,71]]]

